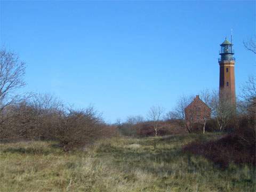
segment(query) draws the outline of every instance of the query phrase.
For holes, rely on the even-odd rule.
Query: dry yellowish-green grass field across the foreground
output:
[[[0,145],[0,191],[255,191],[250,166],[223,170],[181,148],[205,136],[112,138],[65,153],[46,141]]]

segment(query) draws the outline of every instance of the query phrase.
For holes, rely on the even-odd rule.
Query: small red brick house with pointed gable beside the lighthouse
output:
[[[185,108],[188,123],[204,123],[211,118],[211,109],[196,95],[196,98]]]

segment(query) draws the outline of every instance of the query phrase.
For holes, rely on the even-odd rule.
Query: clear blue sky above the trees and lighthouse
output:
[[[218,89],[231,28],[237,93],[256,71],[243,46],[255,35],[254,1],[1,1],[0,19],[1,45],[27,63],[22,91],[92,103],[107,122]]]

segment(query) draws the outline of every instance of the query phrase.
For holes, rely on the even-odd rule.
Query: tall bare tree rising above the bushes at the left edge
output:
[[[17,54],[4,48],[0,50],[0,124],[4,109],[20,99],[15,91],[25,85],[25,68],[25,62],[20,61]]]

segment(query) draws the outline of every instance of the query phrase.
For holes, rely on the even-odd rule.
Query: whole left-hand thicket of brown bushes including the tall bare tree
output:
[[[66,107],[51,94],[15,94],[25,85],[25,63],[0,51],[0,141],[57,140],[64,150],[115,134],[94,107]]]

